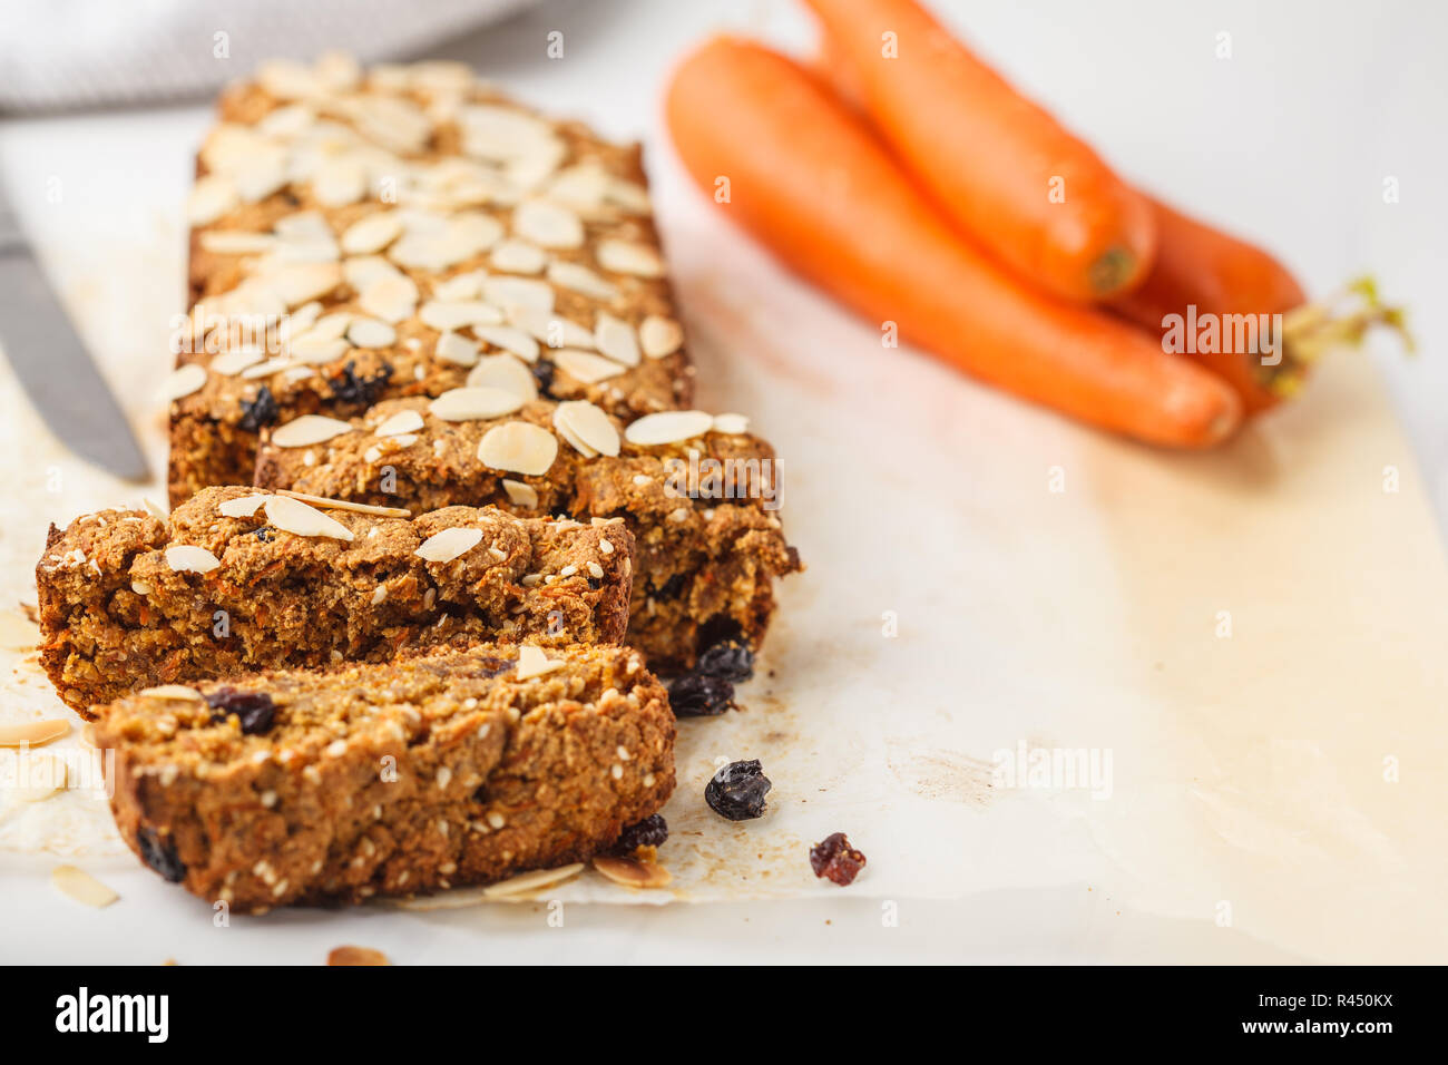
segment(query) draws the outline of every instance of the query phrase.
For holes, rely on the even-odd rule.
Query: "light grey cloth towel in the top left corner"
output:
[[[214,93],[275,57],[416,54],[531,0],[4,0],[0,112]]]

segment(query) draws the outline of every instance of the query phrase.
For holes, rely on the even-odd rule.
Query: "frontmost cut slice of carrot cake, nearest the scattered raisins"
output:
[[[168,880],[236,911],[487,884],[586,861],[673,790],[668,696],[624,648],[515,646],[200,687],[266,696],[261,735],[204,698],[106,709],[111,809]]]

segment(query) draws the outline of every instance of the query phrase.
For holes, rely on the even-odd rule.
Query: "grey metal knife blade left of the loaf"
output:
[[[0,348],[51,432],[127,481],[151,477],[101,378],[0,193]]]

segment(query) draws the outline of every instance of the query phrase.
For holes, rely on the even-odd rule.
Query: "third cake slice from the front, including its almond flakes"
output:
[[[746,419],[681,410],[626,427],[588,401],[537,398],[511,355],[494,356],[488,381],[349,422],[279,425],[264,433],[256,484],[414,510],[621,517],[637,551],[628,642],[652,668],[691,668],[721,639],[759,646],[775,578],[801,567],[773,449]]]

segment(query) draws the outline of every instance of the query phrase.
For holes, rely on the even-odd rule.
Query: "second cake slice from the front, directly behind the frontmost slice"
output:
[[[243,497],[255,497],[255,513],[220,511]],[[484,640],[623,639],[633,538],[621,522],[585,526],[491,507],[411,519],[326,510],[352,533],[348,542],[284,532],[268,519],[271,497],[207,488],[165,520],[107,510],[52,526],[36,584],[41,662],[61,698],[90,716],[93,704],[136,688],[251,669],[375,662]],[[450,561],[417,555],[453,527],[482,535]],[[194,551],[171,551],[181,545],[217,565],[187,569]]]

